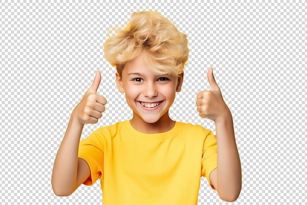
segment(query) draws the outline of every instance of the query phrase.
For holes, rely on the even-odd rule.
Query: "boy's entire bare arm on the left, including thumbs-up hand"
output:
[[[83,126],[97,123],[105,109],[106,99],[97,95],[100,82],[101,73],[97,71],[92,85],[70,117],[66,133],[56,154],[51,184],[54,193],[58,196],[70,195],[91,176],[88,163],[78,158],[78,150]]]

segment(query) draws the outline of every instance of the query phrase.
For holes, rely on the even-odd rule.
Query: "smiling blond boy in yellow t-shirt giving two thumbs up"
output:
[[[169,117],[188,53],[186,35],[153,11],[133,13],[127,27],[106,40],[105,58],[116,66],[116,84],[133,117],[80,142],[84,124],[97,123],[105,109],[106,99],[96,94],[97,72],[56,155],[51,180],[56,195],[100,179],[103,205],[196,205],[204,176],[221,199],[237,199],[241,165],[232,116],[211,68],[211,90],[200,92],[196,105],[201,117],[215,122],[216,136]]]

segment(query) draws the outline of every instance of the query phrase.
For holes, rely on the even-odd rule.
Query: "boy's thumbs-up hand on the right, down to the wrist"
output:
[[[216,123],[224,118],[231,117],[231,113],[214,79],[212,68],[209,68],[207,77],[211,89],[197,94],[197,111],[202,118],[213,120]]]

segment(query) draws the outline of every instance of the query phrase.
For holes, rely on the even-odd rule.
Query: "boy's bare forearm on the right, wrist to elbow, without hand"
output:
[[[241,163],[238,154],[231,113],[215,122],[217,137],[217,184],[220,197],[234,201],[242,184]]]

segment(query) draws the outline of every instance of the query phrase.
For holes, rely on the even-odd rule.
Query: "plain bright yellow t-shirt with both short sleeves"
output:
[[[100,179],[103,205],[196,205],[200,178],[217,167],[216,136],[199,125],[176,122],[157,134],[129,121],[95,130],[80,141],[78,157]]]

